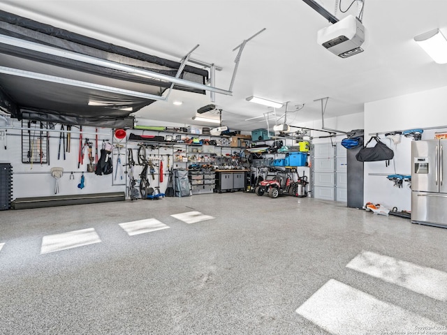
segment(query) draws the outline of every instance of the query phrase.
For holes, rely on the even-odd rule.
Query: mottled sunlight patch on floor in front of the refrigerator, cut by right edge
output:
[[[346,267],[433,299],[447,300],[447,273],[437,269],[371,251],[362,251]]]

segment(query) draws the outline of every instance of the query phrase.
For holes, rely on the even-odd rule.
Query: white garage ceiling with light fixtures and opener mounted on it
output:
[[[342,8],[351,3],[341,1]],[[335,13],[335,0],[318,2]],[[365,52],[348,59],[316,43],[317,31],[330,23],[302,0],[13,0],[0,1],[0,9],[175,61],[200,45],[191,57],[223,68],[215,86],[226,90],[237,55],[233,49],[265,28],[242,52],[233,94],[216,94],[223,125],[230,129],[265,128],[263,122],[244,121],[269,111],[245,101],[252,95],[288,102],[288,110],[304,104],[288,113],[288,124],[299,126],[321,119],[317,99],[329,98],[329,118],[362,112],[369,101],[447,86],[447,66],[435,64],[413,41],[435,28],[447,36],[445,0],[365,0]],[[356,3],[349,13],[356,15]],[[344,15],[337,11],[337,17]],[[209,93],[173,91],[168,101],[135,116],[191,124],[196,110],[210,103]]]

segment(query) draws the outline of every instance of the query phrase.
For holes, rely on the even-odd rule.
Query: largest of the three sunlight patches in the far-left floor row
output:
[[[94,228],[47,235],[42,238],[41,255],[43,253],[53,253],[54,251],[87,246],[88,244],[98,242],[101,242],[101,239],[96,234]]]

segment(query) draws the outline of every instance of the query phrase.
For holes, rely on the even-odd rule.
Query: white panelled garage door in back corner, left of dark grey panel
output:
[[[346,202],[346,149],[339,143],[314,144],[312,154],[314,198]]]

